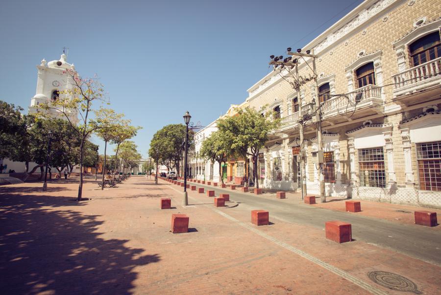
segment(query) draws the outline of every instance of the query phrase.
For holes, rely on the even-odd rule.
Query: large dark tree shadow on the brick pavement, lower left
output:
[[[158,254],[100,238],[99,215],[66,210],[72,204],[52,199],[0,195],[1,292],[133,294],[134,269],[159,262]]]

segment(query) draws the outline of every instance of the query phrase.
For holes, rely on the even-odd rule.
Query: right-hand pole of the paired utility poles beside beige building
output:
[[[312,50],[314,55],[314,49]],[[319,160],[319,183],[320,183],[320,201],[321,203],[326,203],[326,195],[324,188],[324,174],[323,174],[323,141],[321,133],[321,110],[320,110],[320,99],[319,99],[319,83],[317,81],[317,71],[316,71],[316,58],[313,57],[313,72],[314,72],[314,96],[316,98],[316,116],[317,116],[317,159]]]

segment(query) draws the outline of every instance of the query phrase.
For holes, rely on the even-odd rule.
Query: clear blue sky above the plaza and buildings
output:
[[[304,46],[361,2],[1,1],[0,100],[27,112],[35,65],[68,47],[68,62],[98,74],[111,107],[143,127],[134,140],[146,157],[162,126],[186,110],[211,123],[269,73],[271,54]]]

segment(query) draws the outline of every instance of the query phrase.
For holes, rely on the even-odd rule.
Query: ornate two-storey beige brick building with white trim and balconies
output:
[[[283,122],[261,151],[260,183],[298,189],[299,109],[319,100],[325,163],[310,120],[308,193],[319,193],[323,169],[327,196],[441,207],[440,15],[436,0],[366,0],[302,49],[318,55],[319,97],[313,81],[297,93],[280,67],[249,88],[246,103]],[[311,65],[300,58],[299,75]]]

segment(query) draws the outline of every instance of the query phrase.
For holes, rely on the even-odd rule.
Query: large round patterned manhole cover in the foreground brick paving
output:
[[[391,290],[422,294],[422,292],[417,290],[417,284],[396,273],[374,270],[368,272],[368,277],[375,283]]]

